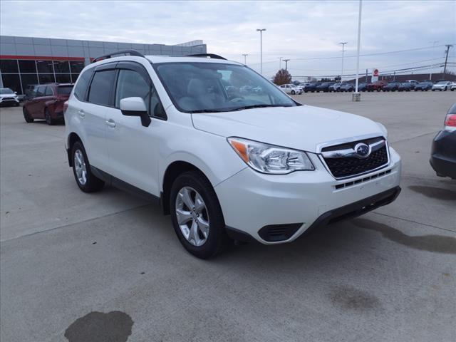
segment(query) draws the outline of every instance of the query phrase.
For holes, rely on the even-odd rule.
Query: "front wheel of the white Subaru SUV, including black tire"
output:
[[[185,193],[189,195],[187,200],[181,196]],[[204,208],[200,209],[201,211],[195,209],[197,195],[203,202]],[[187,206],[186,203],[189,205]],[[214,188],[204,175],[196,171],[189,171],[178,176],[171,187],[170,209],[172,225],[187,252],[199,259],[209,259],[222,252],[229,241],[225,232],[222,208]],[[176,209],[188,213],[187,216],[182,215],[184,220],[181,221],[181,225],[177,220]],[[199,223],[195,225],[195,222]],[[207,224],[207,228],[205,228],[207,234],[204,234],[205,229],[202,228],[204,226],[200,225],[202,222]],[[192,227],[195,227],[193,233]],[[187,234],[188,237],[186,237]],[[195,238],[192,238],[192,234]]]

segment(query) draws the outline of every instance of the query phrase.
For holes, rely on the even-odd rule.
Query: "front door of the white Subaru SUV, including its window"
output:
[[[115,108],[106,111],[106,143],[108,146],[109,173],[114,177],[160,196],[158,187],[158,145],[160,126],[164,120],[155,120],[152,111],[159,99],[145,68],[138,63],[118,64],[115,90]],[[126,116],[120,111],[120,100],[140,97],[152,116],[148,127],[141,125],[139,117]]]

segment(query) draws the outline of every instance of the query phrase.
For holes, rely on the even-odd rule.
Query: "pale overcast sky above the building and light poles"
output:
[[[356,68],[358,1],[6,1],[3,35],[175,44],[203,39],[207,51],[259,70],[263,35],[266,76],[290,58],[293,76],[340,75]],[[434,41],[435,49],[432,49]],[[363,1],[360,68],[389,71],[456,63],[456,1]],[[415,51],[385,53],[390,51]],[[324,59],[311,59],[324,58]],[[437,59],[438,58],[438,59]],[[284,63],[282,63],[284,67]],[[455,71],[455,67],[450,70]],[[437,70],[437,69],[436,69]],[[440,68],[439,70],[442,70]],[[428,71],[426,71],[428,72]]]

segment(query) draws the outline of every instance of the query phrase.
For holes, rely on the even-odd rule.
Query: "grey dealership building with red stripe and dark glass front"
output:
[[[165,45],[0,36],[0,88],[24,94],[29,84],[74,83],[93,58],[130,49],[162,56],[207,53],[201,40]]]

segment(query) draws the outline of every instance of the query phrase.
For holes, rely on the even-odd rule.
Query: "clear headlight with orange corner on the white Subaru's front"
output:
[[[239,157],[258,172],[284,175],[298,170],[315,170],[306,152],[242,138],[228,138],[228,142]]]

